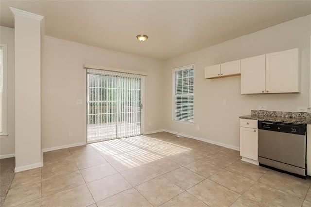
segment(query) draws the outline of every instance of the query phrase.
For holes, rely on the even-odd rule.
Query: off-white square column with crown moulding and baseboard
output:
[[[15,172],[42,167],[43,16],[10,7],[15,22]]]

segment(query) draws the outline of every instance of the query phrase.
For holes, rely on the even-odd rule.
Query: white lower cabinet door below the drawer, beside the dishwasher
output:
[[[240,127],[240,156],[258,161],[257,129]]]

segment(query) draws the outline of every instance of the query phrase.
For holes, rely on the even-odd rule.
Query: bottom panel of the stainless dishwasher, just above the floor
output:
[[[273,168],[277,168],[277,169],[280,169],[283,171],[287,171],[290,173],[295,173],[298,175],[306,176],[306,169],[305,168],[299,168],[299,167],[296,167],[293,165],[288,165],[288,164],[277,162],[277,161],[274,161],[271,159],[266,159],[266,158],[263,158],[260,156],[258,157],[258,162],[260,164],[267,165],[267,166],[270,166]]]

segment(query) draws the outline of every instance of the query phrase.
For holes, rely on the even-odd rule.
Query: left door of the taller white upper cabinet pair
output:
[[[265,55],[241,60],[241,93],[265,93]]]

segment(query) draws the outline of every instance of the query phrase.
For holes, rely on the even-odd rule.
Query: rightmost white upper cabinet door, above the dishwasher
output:
[[[266,92],[299,92],[298,48],[266,54]]]

